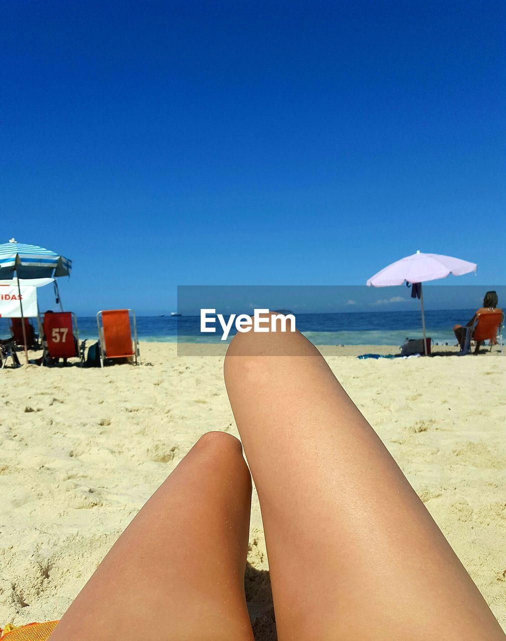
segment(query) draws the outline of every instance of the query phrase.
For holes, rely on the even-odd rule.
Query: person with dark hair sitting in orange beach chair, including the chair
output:
[[[466,325],[455,325],[453,328],[453,333],[461,346],[461,354],[468,353],[471,341],[475,342],[475,354],[478,354],[480,346],[486,340],[490,341],[490,349],[499,341],[501,353],[503,353],[501,333],[503,322],[504,314],[503,310],[498,308],[497,293],[487,292],[483,299],[483,307],[477,310],[473,318]]]

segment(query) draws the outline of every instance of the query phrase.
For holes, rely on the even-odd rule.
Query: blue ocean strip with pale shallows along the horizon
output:
[[[475,310],[433,310],[425,312],[427,336],[435,343],[453,345],[453,325],[465,324]],[[420,310],[410,312],[350,312],[296,314],[297,329],[315,345],[402,345],[406,338],[421,338]],[[78,317],[79,338],[97,340],[97,320]],[[219,326],[218,326],[219,329]],[[231,337],[234,335],[231,331]],[[200,334],[199,316],[137,317],[139,340],[149,342],[216,343],[221,332]],[[0,337],[10,335],[8,319],[0,319]],[[231,338],[230,337],[230,338]],[[229,338],[229,340],[230,340]]]

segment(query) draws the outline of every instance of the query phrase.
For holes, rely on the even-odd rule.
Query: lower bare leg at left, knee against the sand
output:
[[[51,641],[253,641],[244,595],[251,479],[210,432],[122,533]]]

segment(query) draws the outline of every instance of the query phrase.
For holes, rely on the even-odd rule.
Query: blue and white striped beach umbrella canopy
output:
[[[0,245],[0,279],[70,276],[72,261],[50,249],[26,245],[13,238]]]

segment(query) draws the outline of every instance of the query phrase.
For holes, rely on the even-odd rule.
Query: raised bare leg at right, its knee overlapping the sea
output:
[[[504,640],[306,338],[238,335],[225,382],[259,495],[279,641]]]

